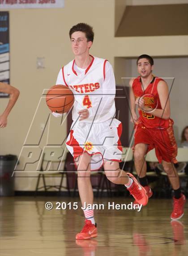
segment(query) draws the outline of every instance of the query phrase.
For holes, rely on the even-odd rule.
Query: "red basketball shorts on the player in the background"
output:
[[[148,145],[147,152],[155,148],[155,154],[158,162],[177,163],[177,144],[175,142],[173,127],[167,129],[150,129],[143,125],[138,125],[135,132],[134,147],[139,143]],[[133,147],[133,149],[134,149]]]

